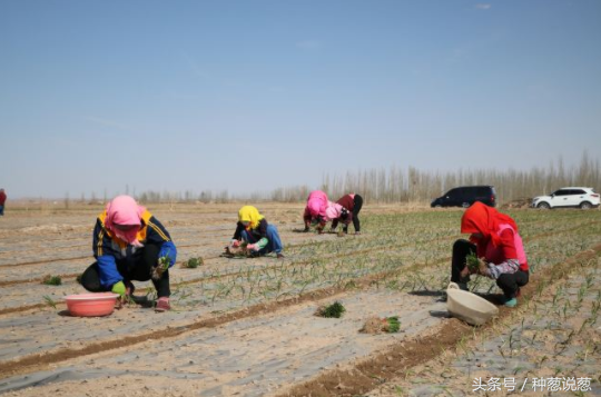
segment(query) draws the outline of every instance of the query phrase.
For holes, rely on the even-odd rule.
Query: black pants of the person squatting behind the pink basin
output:
[[[124,282],[131,280],[148,281],[152,274],[152,267],[157,266],[159,247],[156,245],[146,245],[141,248],[141,256],[135,261],[117,261],[117,270],[124,277]],[[159,280],[152,280],[159,298],[171,295],[169,289],[169,270],[162,274]],[[90,292],[104,292],[110,290],[100,285],[100,274],[98,262],[90,265],[81,276],[81,285]]]

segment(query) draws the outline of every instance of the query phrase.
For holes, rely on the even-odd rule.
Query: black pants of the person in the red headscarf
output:
[[[461,271],[465,268],[465,257],[471,252],[476,251],[476,246],[467,240],[456,240],[453,244],[453,258],[451,260],[451,281],[456,282],[460,287],[465,287],[467,281],[470,281],[470,276],[465,278],[461,277]],[[520,287],[523,287],[528,284],[529,272],[518,270],[513,274],[502,274],[496,279],[496,286],[503,290],[503,294],[506,298],[515,298]]]

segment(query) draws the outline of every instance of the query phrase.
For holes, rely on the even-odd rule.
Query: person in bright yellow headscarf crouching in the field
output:
[[[284,258],[284,247],[277,228],[267,224],[265,217],[253,206],[244,206],[238,211],[238,224],[230,247],[238,248],[242,241],[247,244],[246,249],[254,256],[276,252],[277,258]]]

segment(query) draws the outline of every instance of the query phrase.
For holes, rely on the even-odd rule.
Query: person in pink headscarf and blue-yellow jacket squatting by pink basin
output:
[[[170,310],[169,270],[177,249],[165,227],[129,196],[114,198],[98,216],[93,229],[96,262],[81,276],[90,292],[112,291],[121,301],[134,292],[131,280],[152,279],[156,311]]]

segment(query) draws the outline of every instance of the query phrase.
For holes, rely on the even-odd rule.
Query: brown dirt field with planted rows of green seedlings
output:
[[[444,302],[461,210],[365,207],[361,236],[297,232],[302,205],[258,208],[285,259],[228,259],[238,205],[149,210],[178,247],[174,310],[69,316],[62,297],[93,261],[100,206],[7,207],[0,218],[0,394],[7,396],[601,395],[601,211],[504,210],[531,282],[475,328]],[[353,228],[349,228],[353,231]],[[189,258],[204,265],[183,268]],[[62,285],[42,285],[48,276]],[[136,295],[154,299],[150,282]],[[496,286],[474,291],[495,301]],[[316,317],[335,300],[342,318]],[[398,316],[396,334],[359,333]]]

